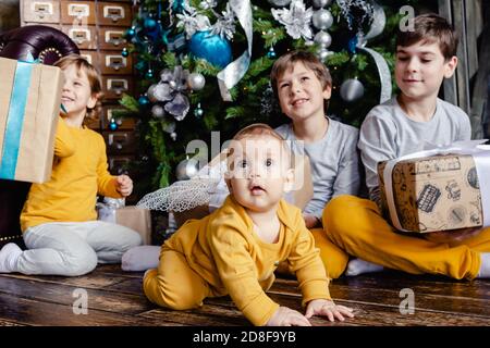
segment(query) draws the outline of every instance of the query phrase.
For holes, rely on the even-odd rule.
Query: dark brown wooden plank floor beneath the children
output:
[[[79,277],[0,274],[0,325],[249,325],[229,297],[209,299],[192,311],[157,308],[142,293],[142,276],[121,272],[119,265],[98,266]],[[87,314],[73,312],[81,289],[87,294]],[[489,281],[451,282],[383,272],[342,277],[333,281],[330,289],[338,303],[354,308],[356,318],[342,323],[314,318],[314,325],[490,326]],[[413,290],[413,314],[400,311],[406,298],[401,297],[402,289]],[[281,304],[301,310],[294,279],[278,278],[269,295]]]

